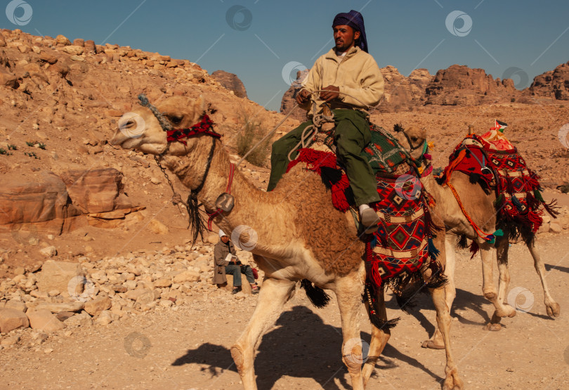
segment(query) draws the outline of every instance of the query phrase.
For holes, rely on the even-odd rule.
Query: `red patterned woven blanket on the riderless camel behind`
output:
[[[554,202],[547,204],[542,197],[539,176],[528,168],[516,147],[510,150],[490,149],[476,134],[466,136],[449,157],[443,181],[448,183],[453,171],[469,175],[471,183],[496,193],[497,228],[507,228],[511,238],[523,233],[535,233],[542,225],[540,205],[552,216]],[[524,233],[525,232],[525,233]]]

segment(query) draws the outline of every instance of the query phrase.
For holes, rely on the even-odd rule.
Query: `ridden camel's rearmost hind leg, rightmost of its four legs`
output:
[[[463,389],[464,384],[458,375],[458,368],[454,363],[450,349],[450,313],[448,311],[447,304],[445,303],[445,290],[443,288],[431,290],[431,295],[433,297],[433,304],[435,304],[435,309],[437,311],[437,325],[443,335],[443,342],[445,343],[445,352],[447,356],[447,365],[445,367],[446,377],[443,389]]]

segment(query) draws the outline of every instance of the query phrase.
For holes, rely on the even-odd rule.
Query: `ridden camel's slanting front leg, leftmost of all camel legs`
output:
[[[253,316],[235,345],[231,347],[231,356],[246,390],[257,388],[254,357],[261,336],[280,316],[284,304],[292,297],[295,285],[292,280],[265,278]]]

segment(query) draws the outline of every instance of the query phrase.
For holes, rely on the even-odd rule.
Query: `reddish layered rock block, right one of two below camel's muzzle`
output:
[[[67,171],[61,175],[73,204],[84,213],[115,209],[123,188],[122,177],[115,168]]]

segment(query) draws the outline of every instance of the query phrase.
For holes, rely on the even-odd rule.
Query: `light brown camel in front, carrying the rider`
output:
[[[202,98],[190,100],[174,96],[157,105],[157,110],[164,113],[169,124],[185,129],[200,122],[204,107]],[[119,130],[111,144],[162,155],[162,162],[190,190],[203,182],[197,197],[207,210],[215,210],[216,199],[228,186],[231,166],[221,141],[199,134],[185,139],[187,145],[167,143],[166,132],[149,108],[139,107],[133,112],[119,121]],[[207,169],[211,153],[211,165]],[[244,388],[256,389],[254,356],[262,335],[280,316],[284,304],[294,294],[296,282],[308,279],[336,294],[344,339],[342,360],[348,368],[353,388],[363,389],[390,332],[386,328],[372,327],[369,358],[362,370],[358,313],[364,292],[364,244],[358,239],[351,216],[334,209],[320,177],[302,169],[300,164],[285,174],[270,193],[256,188],[240,171],[235,172],[230,190],[235,197],[235,207],[214,221],[225,232],[247,225],[257,233],[256,246],[251,252],[265,273],[253,316],[231,347]],[[443,246],[443,243],[438,245]],[[377,312],[386,320],[383,292],[379,295]],[[450,349],[450,315],[444,290],[433,290],[432,297],[438,327],[445,340],[447,361],[443,388],[462,389]]]

